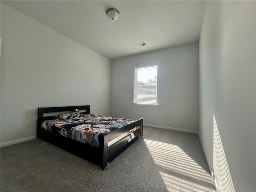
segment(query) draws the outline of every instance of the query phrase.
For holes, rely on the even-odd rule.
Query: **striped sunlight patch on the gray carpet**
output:
[[[214,191],[210,174],[178,146],[144,141],[168,191]]]

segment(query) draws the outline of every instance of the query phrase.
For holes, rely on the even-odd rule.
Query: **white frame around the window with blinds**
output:
[[[134,103],[134,88],[135,88],[135,69],[141,67],[149,67],[149,66],[157,66],[157,84],[156,84],[156,104],[137,104]],[[159,61],[138,64],[133,66],[133,81],[132,81],[132,105],[133,106],[142,106],[142,107],[157,107],[158,106],[158,98],[159,98]]]

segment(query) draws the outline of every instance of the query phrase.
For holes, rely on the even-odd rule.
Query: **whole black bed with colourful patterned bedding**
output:
[[[97,123],[93,122],[94,118]],[[98,116],[90,114],[90,105],[38,108],[37,138],[99,165],[103,170],[142,135],[142,118]]]

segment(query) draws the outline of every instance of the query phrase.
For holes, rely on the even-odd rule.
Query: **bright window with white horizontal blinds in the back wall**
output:
[[[132,104],[158,105],[157,70],[158,62],[134,66]]]

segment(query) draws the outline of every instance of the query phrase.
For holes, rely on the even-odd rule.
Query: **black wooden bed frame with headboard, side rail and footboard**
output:
[[[79,156],[85,160],[88,160],[105,170],[108,162],[114,160],[119,154],[126,150],[130,145],[132,145],[139,136],[142,137],[143,134],[143,119],[136,120],[135,122],[123,126],[117,130],[110,133],[102,133],[99,135],[100,148],[91,146],[86,143],[78,142],[76,140],[58,135],[56,133],[44,130],[41,128],[42,122],[44,120],[52,120],[54,115],[46,116],[47,113],[57,113],[57,112],[72,112],[74,109],[85,110],[81,112],[83,114],[90,114],[90,105],[84,106],[67,106],[67,107],[44,107],[38,108],[38,119],[37,119],[37,138],[43,138],[47,142],[54,144],[76,156]],[[108,142],[117,138],[118,136],[128,132],[132,128],[140,126],[140,129],[136,130],[134,133],[134,138],[131,138],[130,134],[127,134],[125,138],[117,141],[110,147],[108,147]]]

